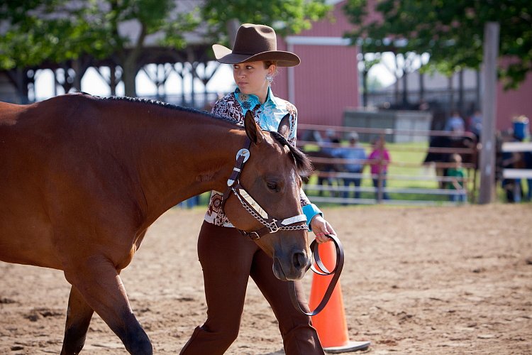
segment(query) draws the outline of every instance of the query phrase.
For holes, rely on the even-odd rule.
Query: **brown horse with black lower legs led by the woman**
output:
[[[72,288],[61,354],[81,351],[93,312],[131,354],[153,353],[119,274],[167,209],[226,190],[245,142],[250,157],[238,186],[265,212],[298,224],[256,242],[278,278],[303,277],[310,253],[299,173],[309,161],[282,138],[287,117],[281,134],[262,132],[249,113],[244,126],[142,99],[68,94],[0,103],[0,260],[64,271]],[[243,206],[240,195],[226,199],[233,225],[264,229]]]

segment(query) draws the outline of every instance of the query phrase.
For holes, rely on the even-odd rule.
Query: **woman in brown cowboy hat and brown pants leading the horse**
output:
[[[294,144],[296,107],[274,97],[270,83],[277,66],[299,65],[299,57],[277,50],[277,39],[272,28],[249,23],[238,29],[233,50],[222,45],[213,45],[213,50],[218,62],[233,65],[233,77],[238,87],[235,92],[218,100],[212,113],[243,121],[245,112],[252,110],[261,128],[269,131],[277,131],[282,117],[289,113],[292,127],[289,142]],[[220,209],[222,196],[222,192],[212,192],[198,240],[208,317],[205,324],[194,330],[181,354],[223,354],[231,346],[240,328],[250,276],[270,302],[279,321],[286,354],[323,354],[310,317],[295,310],[290,301],[290,283],[275,278],[272,259],[233,228]],[[301,205],[318,242],[328,241],[325,234],[336,235],[302,190]],[[301,284],[296,285],[300,303],[306,304]]]

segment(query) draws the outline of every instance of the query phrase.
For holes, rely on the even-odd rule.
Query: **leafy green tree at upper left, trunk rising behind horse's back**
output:
[[[199,23],[194,9],[177,12],[176,4],[174,0],[7,0],[0,5],[0,20],[8,23],[0,42],[0,70],[83,55],[112,58],[122,68],[126,95],[135,96],[146,37],[160,32],[161,45],[182,48],[183,33]],[[121,31],[128,21],[138,23],[138,33]],[[82,73],[77,75],[79,79]]]

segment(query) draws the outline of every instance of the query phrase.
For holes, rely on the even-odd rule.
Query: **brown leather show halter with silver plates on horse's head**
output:
[[[233,192],[235,196],[238,197],[238,200],[244,209],[264,226],[257,231],[250,232],[237,229],[241,234],[248,236],[253,240],[260,239],[261,236],[265,236],[269,233],[275,233],[276,231],[295,231],[298,229],[308,230],[309,228],[306,226],[306,216],[304,214],[298,214],[297,216],[284,219],[273,218],[267,214],[262,207],[260,207],[260,204],[258,204],[258,202],[256,202],[240,184],[238,177],[242,172],[244,163],[250,158],[251,141],[248,137],[246,137],[244,146],[246,148],[242,148],[240,151],[238,151],[238,153],[236,153],[236,163],[233,167],[231,176],[227,180],[227,188],[226,192],[223,193],[221,210],[223,211],[223,206],[226,204],[231,192]],[[301,224],[301,222],[303,222],[303,224]]]

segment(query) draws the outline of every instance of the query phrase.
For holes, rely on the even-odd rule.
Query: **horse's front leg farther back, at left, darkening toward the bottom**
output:
[[[72,286],[68,298],[67,324],[61,355],[75,355],[82,351],[93,313],[94,310],[87,305],[81,293]]]

